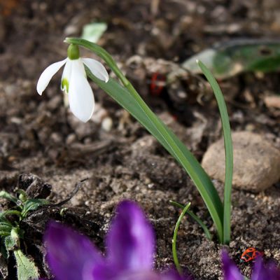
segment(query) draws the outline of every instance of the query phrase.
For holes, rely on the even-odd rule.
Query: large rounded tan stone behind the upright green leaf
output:
[[[280,179],[280,151],[271,141],[252,132],[233,132],[233,186],[258,193]],[[223,139],[209,146],[202,167],[214,179],[225,180]]]

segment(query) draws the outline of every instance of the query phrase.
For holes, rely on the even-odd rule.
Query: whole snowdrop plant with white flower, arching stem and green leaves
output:
[[[169,130],[162,120],[160,120],[160,118],[151,111],[144,100],[141,99],[139,93],[134,89],[130,81],[127,80],[122,71],[120,71],[113,57],[111,57],[111,55],[109,55],[109,53],[99,45],[81,38],[66,38],[65,42],[70,44],[68,58],[64,59],[62,62],[51,64],[47,69],[45,69],[45,71],[43,71],[38,80],[38,93],[42,94],[52,76],[63,64],[66,63],[64,73],[62,75],[62,89],[69,93],[70,109],[74,115],[80,118],[80,120],[87,121],[92,116],[94,99],[92,99],[93,94],[92,91],[88,89],[86,80],[82,78],[83,72],[85,71],[87,76],[93,80],[94,83],[99,85],[99,87],[115,99],[120,106],[123,106],[125,110],[134,116],[134,118],[136,118],[139,123],[141,123],[141,125],[143,125],[146,130],[148,130],[148,132],[150,132],[155,139],[160,142],[160,144],[162,144],[170,155],[172,155],[177,162],[181,164],[183,169],[186,170],[190,178],[193,179],[193,182],[195,183],[197,190],[199,190],[200,195],[207,206],[209,214],[214,221],[218,241],[221,244],[228,244],[230,242],[230,207],[233,169],[230,123],[223,94],[221,93],[218,83],[216,83],[216,80],[211,75],[207,67],[204,66],[202,62],[197,62],[214,90],[222,119],[226,155],[225,195],[223,202],[219,197],[211,179],[197,159],[192,153],[190,153],[188,148],[186,148],[176,135]],[[102,58],[111,68],[113,73],[116,74],[121,84],[118,80],[109,78],[106,71],[104,71],[99,64],[97,65],[97,68],[94,68],[88,63],[88,59],[81,59],[77,51],[78,46],[87,48],[87,50],[94,52],[97,56]],[[69,71],[69,69],[67,70],[68,65],[71,65],[71,71]],[[79,69],[76,69],[75,65],[79,66]],[[75,80],[75,76],[73,76],[70,72],[76,73],[78,78]],[[38,88],[40,90],[38,90]],[[86,96],[85,92],[87,92]],[[79,94],[82,96],[79,97]],[[83,109],[83,104],[85,104],[85,110]],[[91,105],[89,106],[89,104]]]

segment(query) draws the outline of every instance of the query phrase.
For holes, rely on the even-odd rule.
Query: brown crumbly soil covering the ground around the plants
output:
[[[169,200],[191,202],[195,214],[214,233],[193,183],[146,130],[102,90],[93,85],[97,102],[113,120],[109,132],[99,124],[77,124],[63,106],[59,74],[43,97],[36,94],[38,76],[45,66],[66,56],[65,36],[80,36],[83,25],[92,20],[108,22],[109,29],[99,43],[201,160],[209,144],[221,137],[214,98],[207,95],[199,103],[197,96],[204,92],[194,91],[178,107],[174,91],[165,90],[168,102],[167,98],[151,97],[151,69],[141,63],[127,66],[126,62],[132,55],[140,55],[144,62],[152,59],[153,64],[160,64],[158,58],[181,62],[217,41],[264,35],[273,38],[280,31],[279,1],[165,0],[158,8],[153,8],[156,1],[150,0],[6,2],[0,1],[0,188],[13,192],[20,174],[32,173],[52,185],[50,198],[59,202],[69,196],[76,183],[88,178],[63,206],[67,207],[64,215],[59,214],[61,207],[47,207],[23,223],[29,253],[41,274],[46,273],[40,252],[48,218],[75,225],[103,249],[113,209],[123,199],[139,202],[151,218],[158,237],[156,265],[172,265],[172,234],[179,211]],[[279,93],[279,73],[246,73],[224,81],[222,87],[232,129],[265,134],[279,147],[279,109],[267,108],[263,101],[265,95]],[[221,183],[215,184],[222,193]],[[257,246],[266,258],[279,263],[279,186],[260,194],[233,190],[232,195],[232,258],[238,262],[244,248]],[[216,240],[208,241],[196,223],[184,219],[178,237],[179,260],[195,279],[221,279],[220,250]],[[8,279],[15,277],[11,263]],[[241,265],[241,269],[250,274],[250,265]]]

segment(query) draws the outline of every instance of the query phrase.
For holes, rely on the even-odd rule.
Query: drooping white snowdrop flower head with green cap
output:
[[[42,94],[45,87],[48,86],[52,76],[59,71],[65,64],[62,73],[61,89],[69,94],[69,106],[72,113],[84,123],[90,120],[94,111],[94,96],[92,88],[87,81],[85,73],[86,65],[92,74],[108,82],[109,75],[105,67],[95,59],[80,58],[80,53],[77,45],[69,45],[67,51],[68,57],[62,61],[50,64],[43,73],[37,83],[37,92]]]

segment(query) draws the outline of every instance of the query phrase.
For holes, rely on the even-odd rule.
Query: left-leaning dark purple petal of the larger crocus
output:
[[[103,261],[90,239],[60,223],[50,222],[44,238],[48,265],[57,280],[82,280],[86,266]]]

